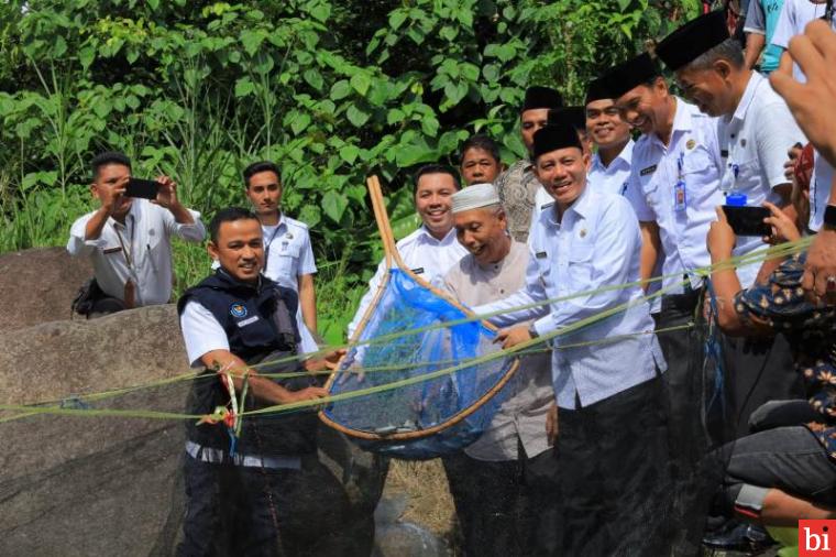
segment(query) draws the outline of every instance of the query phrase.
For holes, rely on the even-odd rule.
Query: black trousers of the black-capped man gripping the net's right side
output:
[[[560,408],[557,452],[566,556],[670,553],[667,412],[657,378],[584,408]]]

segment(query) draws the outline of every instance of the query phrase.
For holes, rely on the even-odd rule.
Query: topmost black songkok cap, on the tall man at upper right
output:
[[[691,20],[664,37],[656,55],[664,65],[676,70],[692,63],[728,39],[726,18],[722,11],[710,12]]]

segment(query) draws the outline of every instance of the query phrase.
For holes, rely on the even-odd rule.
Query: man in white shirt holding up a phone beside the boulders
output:
[[[157,178],[155,199],[128,197],[131,161],[122,153],[101,153],[91,165],[90,193],[100,207],[73,223],[67,242],[70,255],[92,260],[100,292],[88,315],[167,304],[174,282],[170,239],[202,241],[200,214],[183,206],[177,185],[166,176]]]

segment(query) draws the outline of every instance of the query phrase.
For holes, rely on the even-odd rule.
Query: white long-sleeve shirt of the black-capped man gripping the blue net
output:
[[[635,304],[609,318],[554,337],[551,370],[558,406],[574,408],[575,396],[582,406],[588,406],[654,378],[657,367],[667,369],[652,332],[654,324],[649,306],[638,285],[515,310],[550,298],[639,280],[641,233],[624,197],[598,194],[587,187],[566,209],[561,222],[556,220],[553,209],[541,211],[528,247],[531,256],[525,287],[499,302],[474,307],[476,314],[508,310],[491,318],[501,327],[537,318],[534,327],[543,336],[622,304]],[[638,335],[561,348],[634,334]]]

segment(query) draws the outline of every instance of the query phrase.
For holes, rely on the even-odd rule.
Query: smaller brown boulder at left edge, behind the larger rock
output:
[[[0,255],[0,331],[69,318],[78,288],[92,276],[88,258],[64,248]]]

